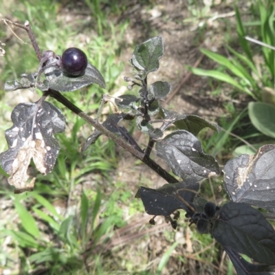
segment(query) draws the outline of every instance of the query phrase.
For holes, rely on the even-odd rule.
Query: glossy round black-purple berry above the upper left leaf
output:
[[[65,74],[69,76],[80,76],[87,68],[87,56],[77,47],[69,47],[69,49],[63,52],[62,65]]]

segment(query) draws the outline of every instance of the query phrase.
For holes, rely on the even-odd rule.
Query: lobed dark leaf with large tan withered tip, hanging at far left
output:
[[[35,178],[28,175],[31,159],[44,175],[54,168],[60,148],[54,134],[65,131],[65,117],[49,102],[21,103],[12,111],[12,122],[5,131],[8,150],[0,159],[9,184],[20,193],[34,188]]]

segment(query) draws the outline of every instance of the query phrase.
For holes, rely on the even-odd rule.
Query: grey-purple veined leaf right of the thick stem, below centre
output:
[[[156,142],[157,155],[172,168],[173,173],[182,179],[197,181],[219,175],[219,164],[206,155],[201,142],[188,131],[179,130]]]

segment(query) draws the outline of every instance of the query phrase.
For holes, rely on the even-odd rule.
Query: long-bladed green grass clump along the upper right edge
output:
[[[242,10],[237,5],[235,5],[234,10],[236,13],[236,31],[234,32],[239,38],[238,43],[236,43],[236,36],[230,37],[225,34],[225,37],[228,37],[225,45],[226,55],[206,49],[201,50],[203,54],[217,64],[216,67],[214,69],[190,68],[190,70],[193,74],[215,80],[218,89],[215,89],[213,94],[216,96],[223,93],[224,87],[227,89],[230,87],[231,91],[228,93],[228,98],[234,98],[240,102],[245,100],[247,106],[249,102],[254,101],[258,102],[257,106],[260,102],[274,105],[275,52],[245,40],[246,35],[256,35],[259,36],[260,41],[268,45],[275,45],[274,3],[273,1],[254,1],[246,17],[241,14]],[[262,60],[262,62],[257,63],[257,60]],[[259,130],[258,124],[253,120],[254,117],[263,115],[263,109],[260,111],[259,108],[255,109],[257,113],[254,113],[248,112],[248,108],[243,108],[243,104],[241,107],[237,105],[234,107],[234,105],[236,104],[232,102],[225,103],[224,108],[230,108],[228,111],[230,111],[231,117],[227,120],[224,118],[218,120],[225,131],[219,135],[213,135],[208,140],[209,142],[204,144],[204,148],[207,150],[211,148],[213,155],[219,154],[222,157],[230,151],[233,152],[234,149],[241,152],[238,146],[245,144],[250,146],[251,144],[253,147],[253,144],[256,146],[256,144],[263,144],[265,141],[270,142],[271,135],[266,137],[267,131]],[[272,120],[267,121],[266,118],[266,123],[272,124]],[[230,134],[231,132],[234,133],[234,136]]]

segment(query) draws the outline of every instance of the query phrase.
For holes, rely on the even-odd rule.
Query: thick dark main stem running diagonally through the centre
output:
[[[102,126],[102,124],[100,124],[98,121],[91,118],[89,115],[87,115],[87,113],[83,112],[81,109],[76,107],[76,105],[74,105],[72,102],[67,100],[67,98],[65,98],[59,91],[54,91],[50,89],[48,92],[50,93],[50,96],[52,96],[53,98],[58,100],[58,102],[61,102],[63,105],[65,105],[65,107],[69,108],[71,111],[79,115],[80,118],[83,118],[83,120],[85,120],[91,126],[94,126],[94,128],[96,128],[102,134],[109,137],[109,139],[113,140],[115,144],[122,146],[126,151],[129,151],[135,157],[137,157],[142,162],[144,162],[144,164],[146,164],[148,167],[154,170],[155,173],[157,173],[159,176],[163,177],[166,181],[168,181],[168,183],[175,184],[178,182],[178,180],[175,179],[175,177],[170,175],[168,172],[166,172],[166,170],[164,170],[164,168],[162,168],[157,163],[155,163],[152,159],[150,159],[146,153],[137,151],[135,148],[133,148],[131,144],[124,141],[118,135],[115,135],[115,133],[112,133],[109,130],[107,130],[104,126]]]

